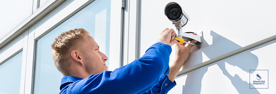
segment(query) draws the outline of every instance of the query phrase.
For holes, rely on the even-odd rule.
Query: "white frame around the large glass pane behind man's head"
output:
[[[64,8],[58,11],[58,13],[56,13],[54,16],[51,16],[51,18],[49,18],[47,21],[42,23],[39,27],[36,27],[36,24],[40,24],[40,21],[37,22],[34,26],[30,27],[29,29],[30,33],[28,38],[28,45],[30,46],[28,46],[28,54],[27,54],[27,60],[26,60],[28,64],[26,65],[26,73],[25,73],[26,75],[25,92],[24,92],[25,94],[33,94],[33,91],[34,91],[34,78],[35,78],[34,74],[35,74],[37,41],[93,1],[94,0],[75,0],[73,2],[65,1],[63,2],[63,4],[66,2],[71,2],[71,3],[69,5],[61,4],[58,7],[56,7],[56,9],[59,9],[59,7],[64,7]],[[121,47],[121,37],[122,37],[121,24],[118,24],[118,23],[121,23],[121,19],[118,19],[118,18],[121,18],[120,4],[121,2],[111,0],[110,16],[112,17],[110,18],[110,24],[111,24],[110,25],[110,35],[111,35],[110,45],[113,45],[113,47],[109,48],[110,49],[109,61],[112,62],[112,63],[109,63],[109,70],[114,70],[118,67],[121,67],[120,66],[121,55],[118,55],[118,53],[121,52],[121,48],[122,48]],[[120,50],[114,50],[114,49],[120,49]]]

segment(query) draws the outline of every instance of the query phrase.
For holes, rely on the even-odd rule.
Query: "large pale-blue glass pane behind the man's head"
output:
[[[83,28],[109,57],[110,0],[95,0],[37,41],[34,94],[57,94],[62,75],[56,69],[51,44],[62,32]],[[102,40],[105,39],[105,40]],[[106,65],[109,67],[109,60]]]

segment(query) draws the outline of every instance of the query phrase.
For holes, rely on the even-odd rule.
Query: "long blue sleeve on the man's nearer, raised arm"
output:
[[[158,84],[163,74],[169,74],[171,46],[158,42],[144,56],[114,71],[103,71],[76,81],[62,89],[69,94],[141,94]]]

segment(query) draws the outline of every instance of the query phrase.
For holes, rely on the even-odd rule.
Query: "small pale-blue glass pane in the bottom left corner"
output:
[[[0,65],[0,94],[19,94],[22,51]]]

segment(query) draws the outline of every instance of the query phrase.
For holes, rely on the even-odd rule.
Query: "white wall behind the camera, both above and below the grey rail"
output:
[[[177,2],[190,16],[190,21],[182,28],[184,32],[203,31],[204,34],[202,47],[192,48],[183,70],[276,35],[276,2],[273,0],[144,0],[141,1],[140,56],[155,43],[158,33],[164,28],[175,30],[164,15],[169,2]],[[249,89],[247,80],[249,70],[269,70],[269,78],[275,76],[275,69],[271,67],[276,65],[274,59],[267,58],[275,56],[274,42],[183,74],[176,79],[177,85],[169,94],[213,93],[215,90],[221,90],[215,93],[271,93],[275,88],[271,80],[269,89]],[[173,59],[174,52],[170,57]]]

